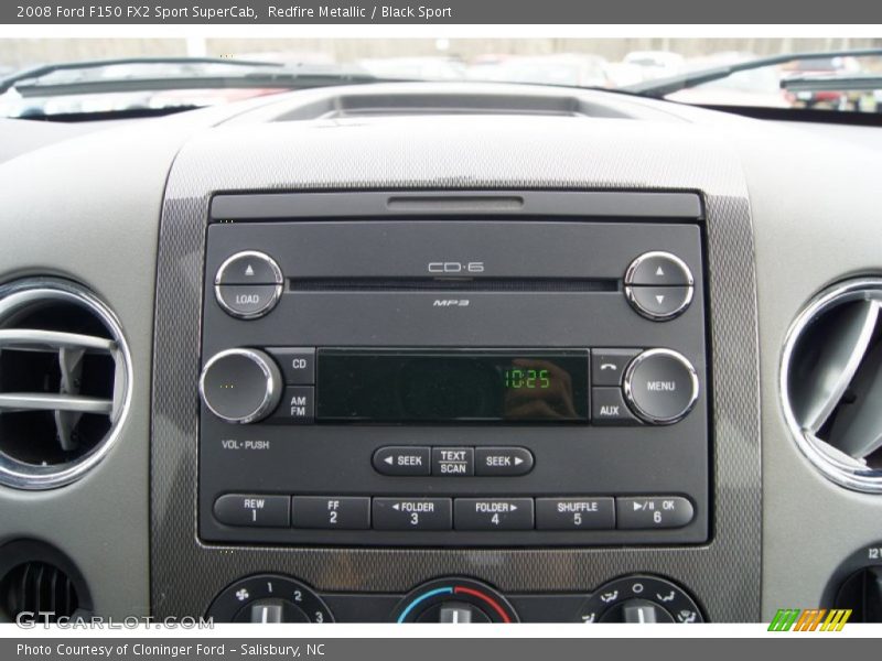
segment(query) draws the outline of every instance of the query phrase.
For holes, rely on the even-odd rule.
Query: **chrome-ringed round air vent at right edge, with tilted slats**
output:
[[[882,492],[882,280],[828,289],[796,318],[782,362],[799,448],[845,487]]]

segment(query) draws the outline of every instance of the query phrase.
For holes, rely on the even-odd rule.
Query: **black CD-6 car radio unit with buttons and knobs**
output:
[[[204,542],[708,540],[699,215],[266,220],[273,197],[208,225]]]

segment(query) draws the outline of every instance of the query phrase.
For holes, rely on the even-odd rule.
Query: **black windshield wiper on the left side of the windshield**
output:
[[[241,73],[217,74],[182,71],[180,75],[130,76],[125,78],[86,78],[58,83],[41,83],[51,74],[64,71],[88,71],[117,65],[224,65],[240,67]],[[300,89],[340,85],[341,83],[374,83],[375,76],[361,71],[318,65],[289,67],[275,62],[247,62],[213,57],[162,57],[99,59],[50,64],[13,74],[0,79],[0,95],[13,89],[21,97],[49,97],[77,94],[112,94],[123,91],[163,91],[169,89],[220,89],[220,88],[284,88]]]

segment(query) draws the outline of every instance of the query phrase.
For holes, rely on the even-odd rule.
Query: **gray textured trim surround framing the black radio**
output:
[[[248,124],[195,138],[180,154],[161,225],[153,381],[152,530],[155,615],[198,614],[258,571],[324,590],[407,590],[466,574],[506,592],[589,589],[628,572],[669,576],[714,621],[760,615],[761,490],[756,300],[746,189],[731,151],[688,126],[598,126],[536,118],[433,118],[316,131]],[[454,139],[455,136],[455,139]],[[679,138],[678,138],[679,136]],[[680,149],[671,149],[680,143]],[[688,148],[685,147],[688,144]],[[590,156],[589,156],[590,154]],[[224,167],[206,167],[224,163]],[[203,250],[220,191],[702,191],[707,205],[713,375],[714,537],[706,546],[568,550],[365,550],[207,546],[196,538],[195,388]]]

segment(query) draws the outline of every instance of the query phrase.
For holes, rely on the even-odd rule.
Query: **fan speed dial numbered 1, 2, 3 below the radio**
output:
[[[325,603],[299,581],[259,574],[229,585],[208,607],[218,622],[333,622]]]

